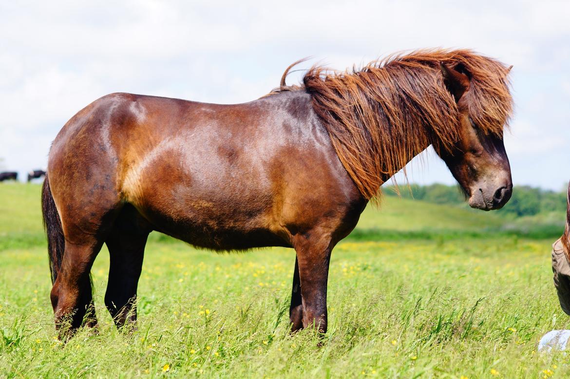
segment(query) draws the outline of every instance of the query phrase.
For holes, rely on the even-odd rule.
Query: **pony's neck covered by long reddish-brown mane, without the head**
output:
[[[388,65],[305,85],[365,198],[427,146],[457,136],[457,105],[433,68]]]

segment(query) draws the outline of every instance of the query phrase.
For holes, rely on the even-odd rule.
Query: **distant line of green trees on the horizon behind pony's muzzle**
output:
[[[465,203],[465,195],[458,186],[445,184],[431,185],[393,185],[382,187],[382,193],[388,196],[397,196],[398,191],[403,198],[414,198],[437,204],[461,204]],[[559,192],[544,190],[531,186],[515,186],[510,201],[499,210],[502,213],[510,213],[518,216],[535,215],[552,211],[564,211],[566,209],[566,191]]]

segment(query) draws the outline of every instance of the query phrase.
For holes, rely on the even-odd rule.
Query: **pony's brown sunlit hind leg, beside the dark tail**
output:
[[[55,203],[60,204],[58,213],[65,240],[62,258],[50,255],[56,276],[51,303],[60,337],[71,335],[82,324],[96,325],[89,273],[121,203],[115,190],[95,189],[62,186],[61,180],[50,177],[50,191]]]

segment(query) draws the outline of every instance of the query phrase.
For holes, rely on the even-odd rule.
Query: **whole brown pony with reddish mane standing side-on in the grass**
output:
[[[105,304],[117,327],[133,323],[157,230],[213,250],[295,248],[292,331],[325,332],[333,247],[422,150],[434,146],[472,207],[508,201],[509,70],[469,50],[422,50],[353,72],[314,67],[290,87],[286,71],[245,104],[101,97],[55,138],[43,186],[56,327],[96,324],[89,271],[103,243]]]

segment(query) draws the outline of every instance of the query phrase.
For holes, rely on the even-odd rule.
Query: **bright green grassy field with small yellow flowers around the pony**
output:
[[[103,305],[108,252],[93,267],[99,333],[56,340],[39,186],[0,185],[0,377],[567,377],[540,337],[570,328],[551,243],[563,211],[523,220],[386,198],[335,249],[329,331],[288,334],[294,251],[196,250],[152,235],[139,330]],[[555,225],[551,225],[556,222]]]

